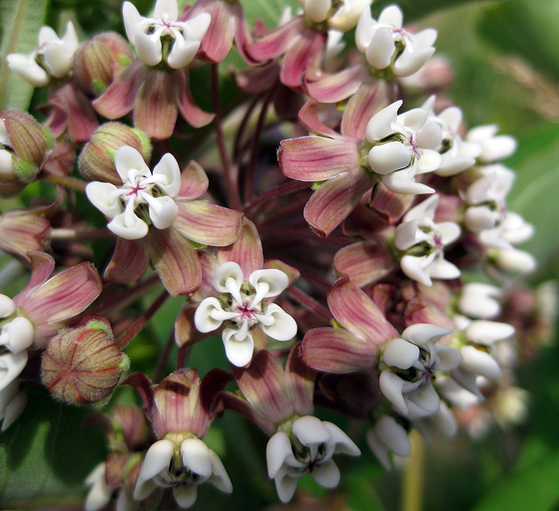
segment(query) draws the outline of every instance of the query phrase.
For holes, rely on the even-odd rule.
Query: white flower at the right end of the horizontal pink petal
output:
[[[440,125],[430,121],[423,108],[398,115],[401,105],[402,100],[395,101],[368,122],[365,137],[373,145],[369,165],[395,193],[433,193],[433,188],[416,183],[415,176],[439,168]]]

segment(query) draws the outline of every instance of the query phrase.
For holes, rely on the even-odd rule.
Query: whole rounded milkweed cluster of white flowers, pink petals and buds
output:
[[[535,297],[511,279],[535,269],[518,248],[532,226],[507,209],[516,142],[423,94],[448,69],[429,67],[436,31],[406,27],[398,6],[300,8],[268,30],[239,1],[157,0],[146,16],[126,1],[128,42],[43,27],[32,54],[8,57],[50,99],[43,123],[0,114],[0,193],[55,193],[0,218],[0,248],[30,270],[0,295],[2,430],[29,385],[98,406],[132,385],[143,401],[95,415],[110,454],[87,511],[189,508],[204,483],[231,493],[238,474],[208,434],[224,414],[268,437],[263,467],[288,502],[305,475],[337,487],[338,455],[368,445],[390,468],[414,428],[451,436],[467,406],[501,403],[501,424],[502,403],[524,409],[515,353],[553,313],[549,299],[514,313]],[[244,95],[224,119],[229,52]],[[212,112],[191,87],[211,90]],[[167,301],[180,312],[152,379],[128,375]]]

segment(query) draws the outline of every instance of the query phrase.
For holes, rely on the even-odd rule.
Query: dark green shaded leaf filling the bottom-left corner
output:
[[[79,504],[83,481],[105,454],[101,429],[82,423],[92,408],[52,400],[25,387],[24,412],[0,435],[0,502],[3,509]]]

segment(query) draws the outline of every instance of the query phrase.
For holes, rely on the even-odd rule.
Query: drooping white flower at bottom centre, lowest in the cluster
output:
[[[291,435],[274,434],[266,446],[266,461],[279,500],[290,501],[299,477],[306,473],[325,488],[336,487],[340,471],[332,457],[337,453],[358,456],[361,451],[335,424],[311,415],[294,420]]]

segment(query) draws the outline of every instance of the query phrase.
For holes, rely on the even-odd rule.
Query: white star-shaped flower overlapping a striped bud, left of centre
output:
[[[125,239],[140,239],[151,224],[158,229],[173,225],[178,214],[173,198],[180,192],[180,168],[173,155],[164,154],[152,173],[136,149],[123,146],[115,154],[115,166],[122,186],[92,182],[85,188],[92,204],[112,219],[107,227]]]

